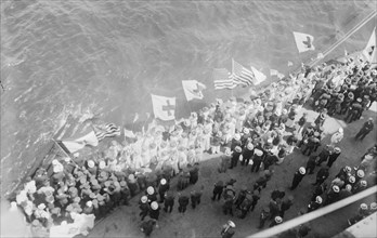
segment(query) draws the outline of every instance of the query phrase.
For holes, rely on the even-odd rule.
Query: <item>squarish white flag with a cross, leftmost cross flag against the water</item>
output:
[[[166,96],[152,96],[153,113],[155,118],[159,118],[164,121],[173,120],[176,118],[176,97],[166,97]]]

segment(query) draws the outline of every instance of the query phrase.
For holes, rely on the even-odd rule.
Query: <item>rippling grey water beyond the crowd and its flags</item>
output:
[[[9,189],[68,116],[125,124],[152,111],[151,93],[188,104],[181,80],[213,91],[211,70],[231,58],[264,74],[282,72],[339,40],[375,1],[48,1],[1,2],[1,187]],[[361,49],[374,22],[330,56]],[[291,31],[315,37],[315,52],[298,54]],[[287,62],[295,66],[287,67]],[[234,90],[233,94],[247,89]]]

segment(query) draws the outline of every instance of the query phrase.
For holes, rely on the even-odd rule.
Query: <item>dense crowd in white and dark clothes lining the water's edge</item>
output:
[[[176,197],[181,213],[190,203],[193,209],[200,203],[204,187],[191,193],[186,188],[198,181],[204,155],[219,154],[221,162],[216,169],[220,173],[238,162],[249,167],[250,173],[262,169],[252,188],[243,186],[236,191],[234,180],[214,184],[212,200],[222,200],[223,213],[233,215],[237,209],[239,217],[245,219],[273,176],[274,166],[283,163],[296,148],[309,160],[294,174],[290,189],[320,168],[306,211],[311,212],[376,184],[372,164],[377,145],[362,156],[360,166],[344,164],[327,183],[329,169],[341,155],[342,128],[332,135],[330,144],[323,143],[327,117],[346,115],[349,123],[360,120],[377,100],[376,93],[376,69],[358,58],[349,58],[346,64],[302,67],[299,74],[272,83],[263,92],[251,93],[250,98],[219,100],[169,127],[154,121],[145,133],[138,132],[135,138],[121,143],[112,141],[106,150],[90,158],[54,159],[50,168],[38,169],[27,180],[15,202],[34,227],[48,230],[63,221],[73,223],[80,214],[104,217],[119,206],[131,206],[130,198],[138,195],[141,229],[150,235],[158,226],[162,206],[165,212],[172,212]],[[307,114],[298,118],[304,104],[318,111],[314,122],[308,122]],[[373,129],[370,118],[355,140],[363,140]],[[170,186],[172,177],[178,180],[178,194]],[[275,189],[269,206],[261,209],[259,228],[266,221],[271,221],[270,227],[281,224],[292,202],[294,197],[286,197],[284,188]],[[144,221],[146,216],[150,219]],[[234,227],[230,221],[222,236],[232,237]]]

